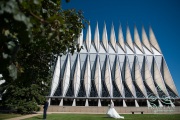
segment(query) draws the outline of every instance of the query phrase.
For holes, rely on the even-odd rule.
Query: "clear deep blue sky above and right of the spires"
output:
[[[82,10],[84,17],[90,20],[92,39],[98,22],[100,39],[106,22],[108,37],[114,24],[116,38],[121,24],[125,36],[126,25],[130,27],[133,38],[134,25],[141,36],[142,25],[146,33],[152,27],[168,68],[180,94],[180,1],[179,0],[71,0],[63,9]],[[84,30],[86,34],[86,30]]]

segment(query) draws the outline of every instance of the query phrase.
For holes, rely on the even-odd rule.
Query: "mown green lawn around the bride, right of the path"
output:
[[[125,120],[180,120],[180,114],[122,114]],[[35,116],[26,120],[40,120],[41,116]],[[113,120],[107,115],[99,114],[49,114],[47,120]]]

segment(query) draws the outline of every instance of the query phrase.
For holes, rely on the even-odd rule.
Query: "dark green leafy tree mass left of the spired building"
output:
[[[81,11],[62,10],[60,0],[1,0],[1,104],[19,113],[37,111],[49,92],[51,63],[81,49],[77,38],[86,23]]]

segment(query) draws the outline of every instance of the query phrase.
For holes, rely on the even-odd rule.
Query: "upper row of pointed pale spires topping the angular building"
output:
[[[85,40],[86,50],[88,52],[90,51],[90,48],[91,48],[91,44],[92,44],[91,40],[92,40],[92,38],[91,38],[91,27],[89,25],[88,29],[87,29],[87,34],[86,34],[86,40]],[[80,37],[78,38],[78,43],[79,43],[80,46],[83,45],[83,30],[82,30],[82,32],[80,34]],[[109,51],[109,42],[108,42],[106,24],[104,24],[104,29],[103,29],[103,34],[102,34],[102,43],[103,43],[103,46],[104,46],[105,50],[108,52]],[[133,41],[132,41],[130,29],[129,29],[128,26],[127,26],[127,29],[126,29],[126,43],[130,47],[130,49],[132,51],[134,51]],[[95,48],[96,48],[97,52],[99,52],[99,50],[100,50],[100,36],[99,36],[98,23],[96,25],[95,34],[94,34],[94,44],[95,44]],[[115,32],[114,32],[114,25],[112,24],[111,34],[110,34],[110,44],[112,45],[115,52],[117,52],[117,44],[119,44],[120,47],[124,51],[126,51],[125,41],[124,41],[121,25],[119,27],[118,42],[116,43],[116,35],[115,35]],[[139,37],[139,34],[138,34],[138,30],[137,30],[137,28],[135,26],[134,27],[134,44],[136,44],[136,46],[143,53],[144,53],[144,51],[143,51],[143,48],[142,48],[142,44],[151,53],[153,53],[153,50],[152,50],[151,46],[154,47],[158,52],[161,53],[161,49],[160,49],[160,47],[158,45],[158,42],[156,40],[156,37],[155,37],[154,32],[153,32],[151,27],[149,27],[149,40],[148,40],[148,37],[146,35],[144,27],[142,27],[142,43],[141,43],[141,40],[140,40],[140,37]]]

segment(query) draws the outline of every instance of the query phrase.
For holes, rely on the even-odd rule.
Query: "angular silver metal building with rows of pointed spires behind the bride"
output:
[[[90,106],[93,99],[99,107],[108,99],[120,100],[123,107],[129,105],[128,100],[134,100],[134,106],[139,107],[139,99],[142,99],[149,107],[152,95],[158,98],[157,104],[163,106],[163,97],[179,97],[151,27],[149,38],[142,27],[142,40],[136,26],[134,40],[128,26],[126,41],[121,26],[117,36],[116,40],[113,24],[109,40],[105,23],[102,40],[98,23],[94,40],[90,25],[84,41],[82,31],[77,42],[83,49],[73,55],[67,53],[57,57],[48,97],[58,98],[59,105],[71,99],[72,106],[78,105],[79,100],[84,101],[84,106]],[[170,103],[174,106],[172,101]]]

